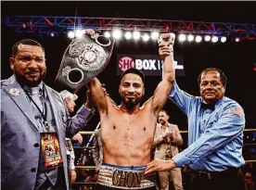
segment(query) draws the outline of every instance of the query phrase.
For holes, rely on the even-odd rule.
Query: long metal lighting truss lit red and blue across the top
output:
[[[75,23],[75,24],[74,24]],[[185,32],[214,35],[239,35],[244,39],[256,39],[256,24],[204,22],[169,19],[122,19],[91,17],[53,16],[8,16],[7,27],[15,27],[16,32],[67,33],[74,29],[92,28],[99,31],[120,28],[144,32]]]

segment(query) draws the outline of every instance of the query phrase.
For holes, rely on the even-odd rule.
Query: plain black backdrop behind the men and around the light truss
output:
[[[60,91],[62,88],[55,83],[58,67],[62,55],[70,44],[66,34],[59,37],[39,37],[37,34],[18,34],[13,28],[7,28],[4,18],[7,15],[45,15],[45,16],[74,16],[78,6],[78,16],[86,17],[120,17],[139,19],[185,19],[223,22],[250,22],[255,21],[253,10],[255,2],[1,2],[1,80],[11,76],[8,57],[11,55],[12,45],[22,38],[32,38],[43,44],[46,51],[47,75],[45,83]],[[254,17],[253,17],[254,16]],[[254,18],[254,19],[253,19]],[[225,44],[179,44],[174,45],[175,55],[184,57],[185,77],[177,77],[179,86],[191,95],[198,93],[198,74],[208,67],[224,70],[228,78],[225,95],[237,100],[245,109],[246,127],[255,128],[256,106],[256,72],[253,66],[256,63],[256,41],[240,43],[227,42]],[[153,42],[127,42],[122,40],[115,44],[109,66],[98,78],[106,83],[112,99],[118,104],[120,97],[118,85],[120,76],[116,75],[117,54],[158,54],[158,46]],[[146,77],[146,95],[143,102],[153,95],[160,82],[160,76]],[[78,108],[85,100],[86,89],[81,89],[77,95]],[[187,129],[186,115],[168,100],[166,108],[171,114],[171,122],[179,125],[180,130]],[[98,115],[90,122],[86,130],[94,130],[98,122]],[[85,130],[85,129],[84,129]]]

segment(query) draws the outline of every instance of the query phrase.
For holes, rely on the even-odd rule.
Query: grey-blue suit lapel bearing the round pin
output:
[[[3,88],[6,91],[6,94],[10,96],[10,98],[15,102],[15,104],[18,106],[20,111],[29,119],[31,120],[33,126],[38,130],[36,120],[34,118],[34,115],[32,114],[32,105],[28,101],[25,92],[20,87],[19,83],[15,80],[15,77],[12,76],[10,79],[11,82],[9,82],[8,85],[4,85]],[[14,88],[19,90],[19,95],[14,96],[10,95],[9,91]]]

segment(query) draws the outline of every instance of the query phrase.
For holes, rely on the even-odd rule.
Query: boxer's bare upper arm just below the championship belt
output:
[[[107,94],[104,92],[101,83],[94,78],[88,86],[91,91],[92,99],[96,104],[97,111],[104,113],[108,111]]]

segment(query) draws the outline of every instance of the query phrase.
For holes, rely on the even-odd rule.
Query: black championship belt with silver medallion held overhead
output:
[[[75,93],[105,69],[113,46],[113,39],[85,32],[82,38],[73,40],[66,49],[56,81]]]

